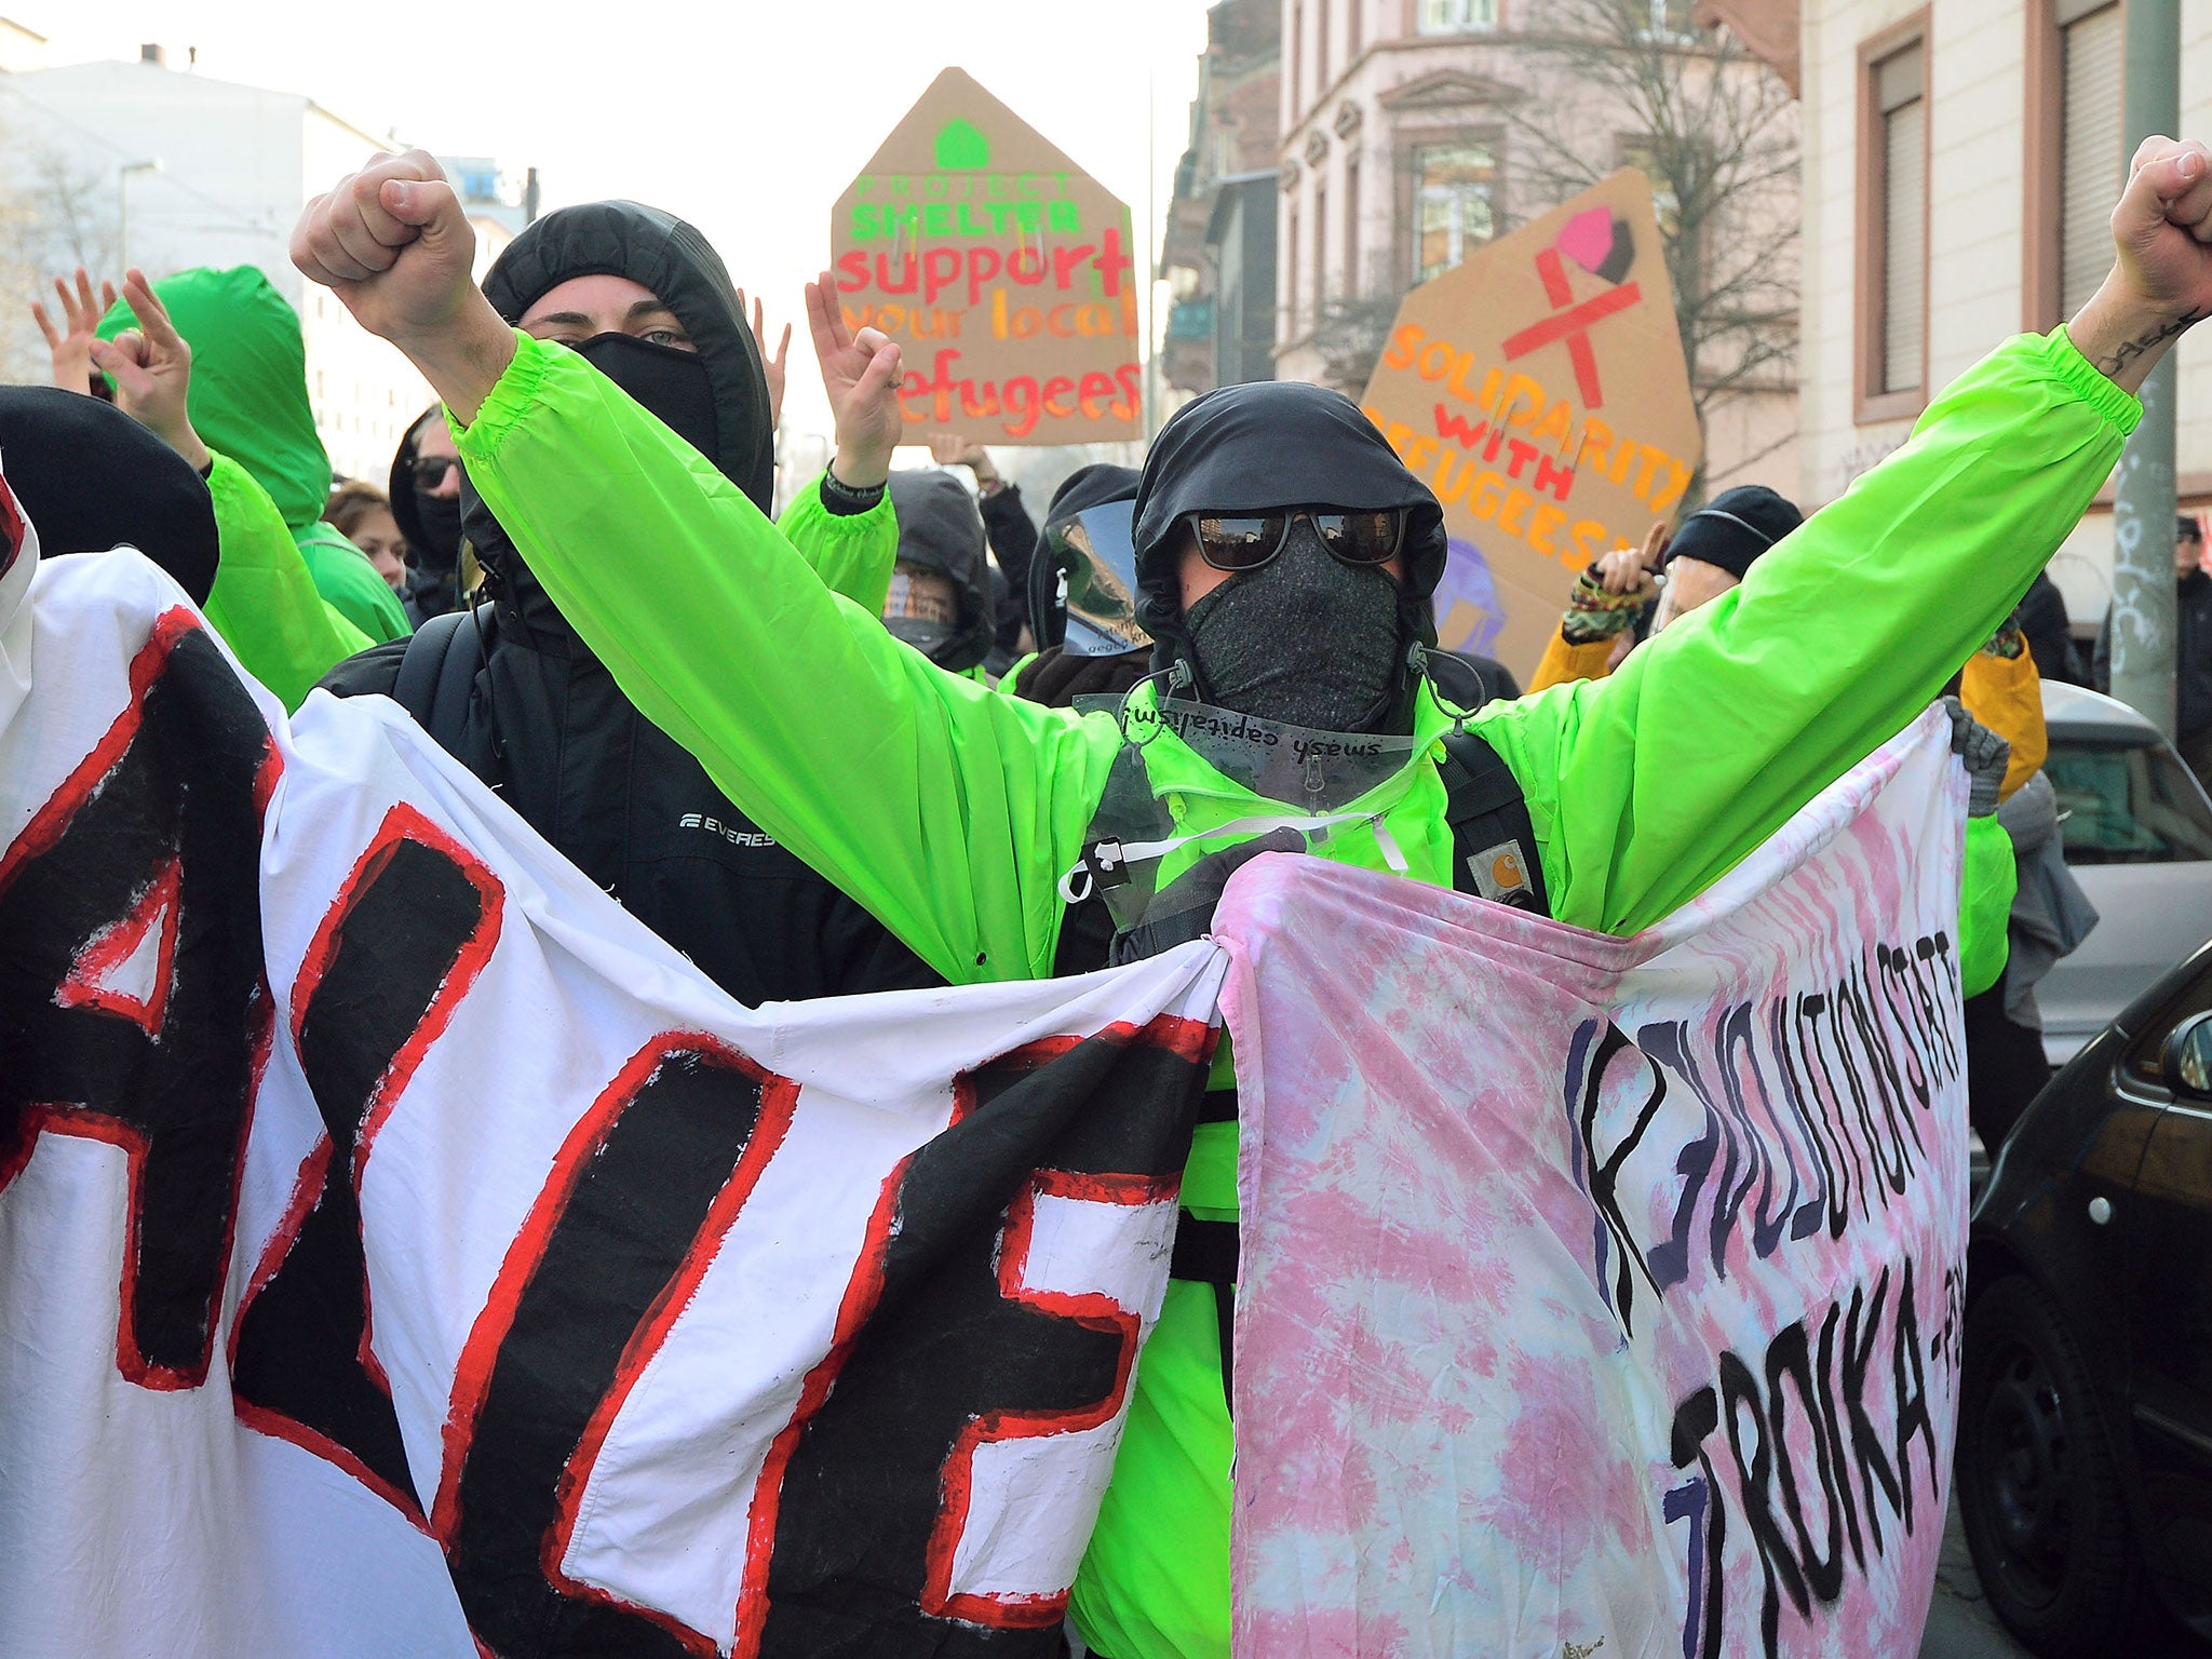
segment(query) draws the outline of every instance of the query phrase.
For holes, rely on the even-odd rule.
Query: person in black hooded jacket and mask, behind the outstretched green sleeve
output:
[[[588,365],[582,372],[644,422],[659,451],[684,453],[768,509],[774,427],[761,352],[721,259],[697,230],[635,201],[562,208],[515,237],[484,285],[500,316],[533,343],[557,343],[540,349]],[[449,442],[442,420],[416,438],[416,453],[434,456],[440,438]],[[427,471],[416,482],[425,480]],[[458,467],[438,473],[438,489],[453,491],[489,602],[363,653],[323,681],[330,690],[396,697],[577,869],[739,1002],[936,982],[637,712],[546,597],[507,531],[507,509],[493,511]],[[975,518],[973,507],[967,513]],[[816,593],[827,582],[883,608],[898,522],[880,487],[810,484],[787,524],[814,553]],[[626,557],[619,544],[599,555]]]

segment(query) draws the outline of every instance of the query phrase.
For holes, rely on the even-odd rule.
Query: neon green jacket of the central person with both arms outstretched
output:
[[[1617,675],[1469,719],[1526,794],[1553,914],[1608,933],[1666,916],[1918,717],[2088,507],[2137,418],[2064,332],[2011,341],[1905,449]],[[1119,748],[1110,719],[933,670],[566,352],[518,341],[458,440],[624,692],[763,830],[951,980],[1051,971],[1057,878]],[[1425,697],[1416,734],[1444,726]],[[1155,790],[1203,785],[1179,812],[1267,810],[1168,734],[1146,759]],[[1433,765],[1385,790],[1413,876],[1447,885]],[[1365,827],[1321,856],[1383,867]],[[1234,1206],[1232,1124],[1201,1128],[1183,1201]],[[1210,1290],[1170,1285],[1073,1599],[1115,1659],[1228,1652],[1217,1343]]]

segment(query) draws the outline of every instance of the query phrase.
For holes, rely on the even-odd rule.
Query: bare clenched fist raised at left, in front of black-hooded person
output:
[[[383,155],[338,179],[292,230],[301,274],[400,347],[462,420],[476,418],[515,354],[473,261],[469,215],[427,150]]]

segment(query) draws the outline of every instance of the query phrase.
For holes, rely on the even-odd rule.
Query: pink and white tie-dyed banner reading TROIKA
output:
[[[1630,940],[1237,876],[1241,1659],[1918,1648],[1962,821],[1931,710]]]

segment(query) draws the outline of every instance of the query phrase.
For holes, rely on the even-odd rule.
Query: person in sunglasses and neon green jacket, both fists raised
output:
[[[1133,945],[1203,927],[1206,860],[1259,830],[1610,933],[1701,894],[1927,708],[2097,493],[2143,374],[2212,312],[2212,248],[2190,234],[2212,234],[2205,157],[2146,146],[2115,212],[2119,263],[2084,312],[1969,369],[1739,588],[1606,679],[1471,714],[1431,677],[1438,502],[1321,387],[1223,387],[1168,420],[1135,502],[1157,675],[1119,717],[1079,714],[891,641],[588,363],[507,327],[469,281],[473,237],[429,155],[378,157],[312,201],[292,259],[438,389],[476,489],[639,710],[925,962],[975,982],[1051,973],[1093,887],[1121,896]],[[880,489],[898,347],[838,334],[827,272],[807,310],[854,409],[832,478]],[[1303,759],[1270,759],[1298,743]],[[1526,860],[1506,856],[1511,825],[1482,858],[1453,834],[1455,816],[1482,823],[1455,810],[1482,757],[1511,783],[1491,823],[1524,814]],[[1108,856],[1146,836],[1146,869]],[[1071,1601],[1110,1659],[1230,1648],[1217,1281],[1234,1274],[1219,1228],[1237,1214],[1237,1124],[1203,1117],[1177,1241],[1190,1276],[1144,1347]]]

